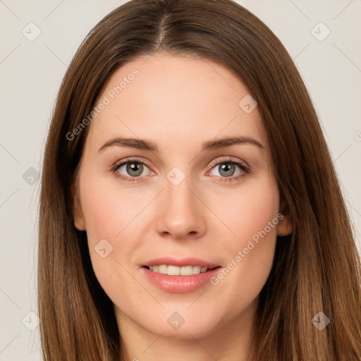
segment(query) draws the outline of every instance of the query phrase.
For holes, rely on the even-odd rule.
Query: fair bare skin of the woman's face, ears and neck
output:
[[[90,125],[77,180],[75,226],[87,231],[92,265],[114,302],[130,360],[245,361],[276,235],[292,231],[288,214],[283,212],[216,286],[169,293],[147,281],[140,264],[173,256],[227,267],[252,235],[282,212],[259,110],[246,114],[238,106],[247,88],[224,66],[165,53],[123,65],[96,103],[134,68],[139,75]],[[264,148],[237,144],[201,151],[204,142],[238,135]],[[159,152],[116,145],[99,152],[116,137],[152,141]],[[127,173],[126,166],[111,170],[127,157],[145,162],[141,176]],[[239,178],[230,181],[219,165],[212,166],[227,164],[229,157],[247,164],[250,173],[235,166],[231,176]],[[166,177],[175,166],[185,176],[178,185]],[[133,180],[120,179],[117,172]],[[102,239],[113,247],[105,258],[94,250]],[[173,312],[185,320],[177,330],[166,322]]]

